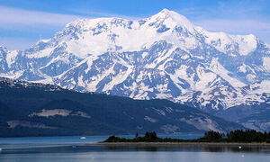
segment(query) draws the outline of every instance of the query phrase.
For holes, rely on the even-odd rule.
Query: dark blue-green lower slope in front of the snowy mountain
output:
[[[166,100],[132,100],[0,78],[0,136],[228,131],[245,129]]]

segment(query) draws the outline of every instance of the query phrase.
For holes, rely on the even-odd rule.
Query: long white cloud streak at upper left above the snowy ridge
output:
[[[53,14],[46,12],[38,12],[31,10],[23,10],[18,8],[10,8],[0,5],[0,25],[6,28],[13,27],[14,25],[52,25],[63,26],[67,23],[82,18],[94,18],[94,17],[121,17],[127,19],[139,19],[138,17],[124,16],[119,14],[106,14],[102,12],[84,11],[84,10],[70,10],[76,14],[84,14],[86,16],[74,15],[74,14]]]

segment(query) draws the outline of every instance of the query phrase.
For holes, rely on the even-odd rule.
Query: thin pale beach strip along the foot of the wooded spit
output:
[[[86,143],[85,146],[105,147],[266,147],[270,143],[224,143],[224,142],[98,142]]]

